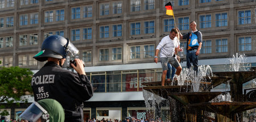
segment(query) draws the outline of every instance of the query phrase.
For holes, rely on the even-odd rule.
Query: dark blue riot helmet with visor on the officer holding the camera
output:
[[[48,57],[65,58],[68,53],[73,56],[79,54],[78,49],[69,41],[69,39],[58,35],[47,37],[42,44],[41,51],[33,58],[38,61],[46,61]]]

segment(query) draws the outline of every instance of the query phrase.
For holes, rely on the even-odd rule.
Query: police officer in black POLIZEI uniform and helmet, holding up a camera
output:
[[[61,68],[68,53],[76,56],[79,51],[62,36],[47,37],[42,51],[34,56],[38,61],[47,60],[47,63],[34,74],[31,86],[35,101],[51,98],[63,106],[65,121],[84,121],[83,102],[93,96],[93,87],[80,59],[75,59],[76,66],[71,64],[77,73]]]

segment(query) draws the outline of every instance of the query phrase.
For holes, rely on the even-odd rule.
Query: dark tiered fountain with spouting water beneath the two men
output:
[[[256,108],[256,88],[245,95],[242,91],[243,83],[256,78],[256,71],[246,71],[244,56],[233,56],[230,71],[212,72],[209,66],[199,66],[197,75],[193,70],[183,69],[179,77],[175,76],[177,81],[166,81],[165,86],[160,82],[142,83],[143,94],[147,91],[154,94],[151,99],[167,99],[171,121],[243,121],[242,112]],[[230,85],[230,91],[210,91],[222,83]],[[145,101],[147,96],[144,95]],[[205,116],[207,112],[215,117]]]

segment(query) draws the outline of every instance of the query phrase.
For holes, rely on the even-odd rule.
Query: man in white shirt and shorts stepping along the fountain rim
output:
[[[158,53],[160,51],[160,60],[163,68],[163,74],[162,74],[162,86],[164,86],[164,82],[166,80],[166,74],[168,70],[168,62],[174,66],[176,69],[176,75],[180,75],[180,72],[182,70],[181,65],[179,61],[177,61],[177,58],[175,58],[175,54],[177,54],[177,48],[179,47],[179,41],[177,40],[177,29],[173,28],[170,32],[170,35],[163,37],[163,39],[160,41],[158,46],[155,50],[155,58],[154,61],[157,64],[158,63]]]

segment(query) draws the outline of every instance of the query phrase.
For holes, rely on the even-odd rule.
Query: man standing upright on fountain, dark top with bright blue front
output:
[[[198,56],[200,54],[200,49],[202,47],[202,33],[196,29],[196,22],[192,21],[189,24],[191,28],[191,32],[188,32],[185,35],[181,35],[179,28],[180,39],[187,39],[187,68],[191,68],[191,64],[193,64],[193,70],[198,72]]]

